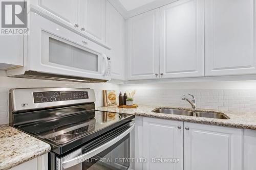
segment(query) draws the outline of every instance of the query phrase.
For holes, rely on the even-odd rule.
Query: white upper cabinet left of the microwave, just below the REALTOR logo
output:
[[[1,36],[0,38],[0,69],[23,66],[23,36]]]

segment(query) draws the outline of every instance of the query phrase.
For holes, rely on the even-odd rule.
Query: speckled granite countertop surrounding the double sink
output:
[[[118,108],[117,106],[110,107],[99,107],[96,110],[109,111],[116,113],[127,113],[135,114],[144,117],[154,117],[154,118],[164,118],[172,120],[181,120],[185,122],[194,122],[208,125],[219,125],[233,128],[244,128],[256,130],[256,112],[230,112],[230,111],[218,111],[210,109],[197,109],[205,112],[221,112],[227,115],[230,119],[217,119],[217,118],[205,118],[205,117],[194,117],[194,116],[183,116],[174,114],[164,114],[164,113],[154,113],[152,110],[155,108],[173,108],[173,109],[185,109],[187,108],[177,108],[177,107],[161,107],[161,106],[139,106],[137,108],[127,109]]]

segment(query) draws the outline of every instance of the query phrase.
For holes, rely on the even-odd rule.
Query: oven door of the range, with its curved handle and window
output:
[[[87,143],[71,154],[56,158],[57,170],[126,170],[130,166],[130,127],[122,126]]]

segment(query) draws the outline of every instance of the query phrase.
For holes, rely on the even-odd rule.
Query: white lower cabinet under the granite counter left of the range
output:
[[[48,154],[34,158],[28,162],[22,163],[10,170],[48,170]]]

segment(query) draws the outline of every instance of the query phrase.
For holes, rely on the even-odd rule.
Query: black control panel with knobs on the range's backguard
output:
[[[34,103],[89,99],[88,91],[43,91],[33,92]]]

